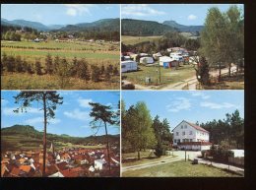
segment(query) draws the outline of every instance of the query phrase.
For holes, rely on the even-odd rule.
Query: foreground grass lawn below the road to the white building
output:
[[[223,169],[204,165],[191,164],[190,161],[173,161],[147,168],[129,170],[122,173],[124,177],[238,177]]]

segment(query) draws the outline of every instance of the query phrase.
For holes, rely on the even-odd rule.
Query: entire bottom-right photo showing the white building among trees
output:
[[[122,177],[243,177],[244,91],[123,91]]]

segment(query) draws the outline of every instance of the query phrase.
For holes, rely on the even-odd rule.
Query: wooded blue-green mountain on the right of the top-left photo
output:
[[[59,31],[65,32],[83,32],[83,31],[107,31],[119,32],[120,20],[119,19],[102,19],[93,23],[80,23],[76,25],[68,25]]]

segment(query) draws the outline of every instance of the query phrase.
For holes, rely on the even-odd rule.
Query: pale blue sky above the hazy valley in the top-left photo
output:
[[[119,18],[118,4],[5,4],[1,18],[23,19],[44,25],[91,23],[99,19]]]

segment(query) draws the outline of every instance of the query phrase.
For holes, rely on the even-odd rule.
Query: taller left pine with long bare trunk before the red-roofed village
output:
[[[43,110],[43,166],[42,176],[45,176],[45,160],[46,160],[46,127],[49,119],[55,117],[55,110],[58,104],[62,104],[63,97],[61,97],[55,91],[42,91],[42,92],[21,92],[14,96],[15,103],[21,103],[20,107],[14,110],[14,112],[27,112],[27,108],[32,106],[32,102],[37,101],[41,104]]]

